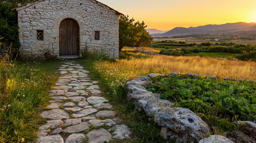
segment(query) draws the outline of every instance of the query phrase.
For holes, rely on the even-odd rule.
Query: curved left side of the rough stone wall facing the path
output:
[[[172,102],[161,100],[159,94],[146,90],[152,84],[149,76],[141,76],[127,82],[128,100],[144,110],[147,116],[166,128],[165,138],[178,142],[199,142],[207,137],[209,126],[187,108],[175,108]]]

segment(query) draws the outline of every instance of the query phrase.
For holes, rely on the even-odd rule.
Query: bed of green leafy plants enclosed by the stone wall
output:
[[[206,123],[222,130],[236,128],[237,120],[256,122],[256,84],[254,81],[221,81],[205,77],[156,76],[148,91],[176,107],[189,108]]]

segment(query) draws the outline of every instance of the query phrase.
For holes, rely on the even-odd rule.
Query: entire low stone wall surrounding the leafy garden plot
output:
[[[196,116],[193,111],[187,108],[174,107],[172,102],[161,100],[159,94],[147,91],[147,86],[152,85],[152,79],[160,73],[148,74],[127,82],[129,101],[134,102],[139,110],[143,110],[147,116],[151,117],[159,126],[162,126],[161,135],[165,139],[175,139],[176,142],[255,142],[256,123],[238,122],[240,130],[243,132],[228,132],[228,138],[218,135],[211,135],[209,126]],[[177,72],[171,75],[178,74]],[[162,74],[161,74],[162,75]],[[169,74],[166,74],[166,76]],[[187,73],[186,76],[199,76],[199,74]],[[206,76],[215,79],[213,76]],[[224,79],[230,80],[230,79]],[[244,80],[244,79],[238,79]],[[230,139],[232,141],[230,141]]]

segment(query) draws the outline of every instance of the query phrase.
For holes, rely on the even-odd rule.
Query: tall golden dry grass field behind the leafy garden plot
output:
[[[256,80],[256,63],[252,61],[217,60],[202,57],[172,57],[167,55],[150,55],[150,58],[130,58],[120,60],[119,66],[127,63],[135,70],[162,70],[168,73],[199,73],[216,76],[218,71],[224,77],[238,77]],[[125,66],[127,66],[125,65]]]

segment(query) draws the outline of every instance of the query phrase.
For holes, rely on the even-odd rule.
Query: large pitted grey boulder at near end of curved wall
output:
[[[155,122],[180,135],[180,142],[198,142],[210,132],[209,126],[187,108],[165,108],[155,114]]]

